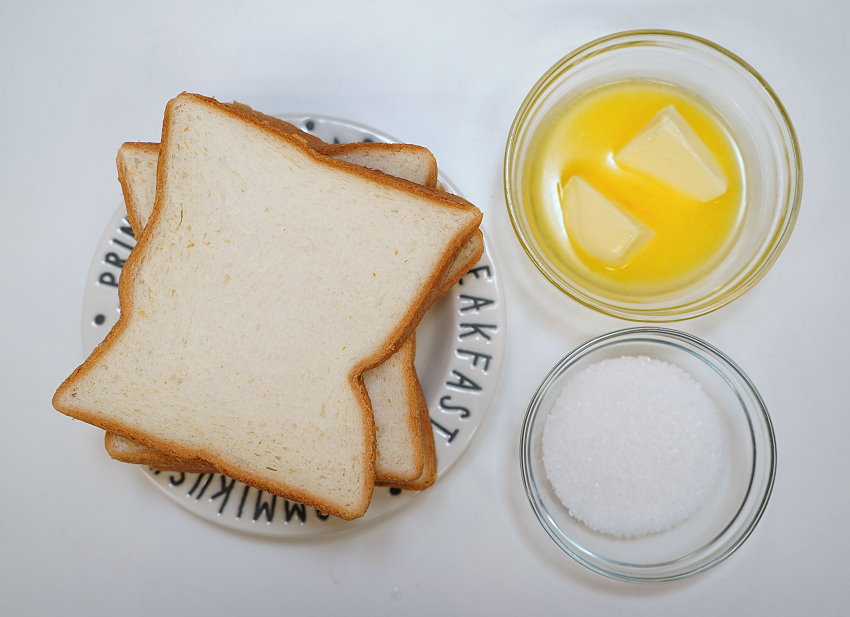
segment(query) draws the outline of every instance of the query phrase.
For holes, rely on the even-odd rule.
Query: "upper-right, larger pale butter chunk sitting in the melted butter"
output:
[[[615,160],[700,201],[726,192],[726,177],[711,151],[673,105],[655,114]]]

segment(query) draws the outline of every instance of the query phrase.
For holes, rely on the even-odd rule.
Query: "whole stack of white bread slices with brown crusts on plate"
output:
[[[121,315],[56,409],[116,459],[218,471],[344,519],[436,479],[414,330],[481,256],[428,150],[329,145],[238,103],[169,102],[124,144]]]

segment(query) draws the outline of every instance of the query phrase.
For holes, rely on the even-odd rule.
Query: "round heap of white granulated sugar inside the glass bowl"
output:
[[[637,537],[699,509],[717,482],[723,441],[714,403],[688,373],[623,356],[567,382],[543,429],[543,464],[573,517]]]

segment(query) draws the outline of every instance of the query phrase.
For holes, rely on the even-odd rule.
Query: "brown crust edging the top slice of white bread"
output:
[[[106,354],[113,347],[115,342],[123,335],[130,323],[130,320],[132,319],[135,279],[140,265],[146,258],[149,239],[156,233],[162,211],[162,198],[165,194],[165,185],[166,182],[168,182],[168,172],[166,166],[163,165],[163,157],[170,147],[172,116],[174,114],[175,107],[184,101],[191,101],[191,103],[194,104],[211,107],[216,111],[230,115],[234,119],[252,125],[267,135],[275,135],[278,138],[287,141],[294,148],[300,150],[302,155],[314,159],[320,165],[331,167],[343,173],[354,174],[360,178],[368,179],[371,182],[382,184],[387,188],[407,192],[417,197],[431,200],[435,204],[463,210],[468,214],[468,221],[451,237],[447,243],[447,249],[444,252],[443,258],[438,262],[434,270],[426,277],[419,293],[414,297],[413,302],[411,302],[408,309],[398,320],[395,329],[383,341],[381,341],[380,344],[376,345],[374,353],[357,362],[348,374],[350,387],[355,399],[359,403],[361,411],[360,424],[362,427],[365,462],[364,469],[362,470],[363,481],[361,496],[354,505],[345,506],[331,503],[320,495],[288,485],[285,480],[273,481],[266,477],[256,475],[251,471],[239,468],[228,463],[217,452],[204,448],[203,446],[181,446],[179,444],[169,442],[168,440],[158,438],[155,435],[145,432],[143,429],[133,429],[132,427],[127,426],[125,422],[121,422],[115,418],[110,418],[109,416],[97,413],[96,411],[90,411],[79,407],[73,403],[73,399],[76,397],[76,393],[73,392],[74,383],[81,379],[91,367],[105,360]],[[202,458],[210,461],[218,470],[239,482],[249,484],[273,494],[281,495],[287,499],[314,507],[328,514],[333,514],[339,518],[351,520],[362,516],[365,513],[371,499],[375,480],[375,432],[371,404],[363,385],[363,372],[385,361],[399,348],[404,339],[412,334],[415,325],[418,323],[425,310],[427,310],[430,301],[433,300],[433,289],[439,284],[440,277],[444,276],[452,260],[461,250],[463,244],[478,228],[481,221],[481,212],[472,204],[460,198],[440,194],[433,189],[427,189],[414,183],[387,176],[380,172],[336,161],[335,159],[329,158],[311,149],[305,143],[303,138],[286,132],[280,127],[269,122],[260,120],[255,114],[246,112],[244,109],[240,109],[239,107],[221,104],[214,99],[201,95],[183,93],[169,101],[166,106],[163,119],[162,144],[163,146],[160,149],[157,169],[156,200],[151,213],[151,219],[147,227],[148,231],[141,234],[141,237],[138,239],[136,248],[125,263],[124,276],[122,276],[119,280],[118,297],[122,307],[121,315],[119,316],[115,326],[109,331],[104,340],[94,349],[91,355],[59,386],[53,396],[54,407],[61,413],[81,419],[90,424],[100,426],[107,431],[117,433],[169,454],[182,458]]]

